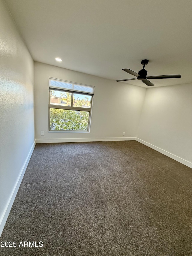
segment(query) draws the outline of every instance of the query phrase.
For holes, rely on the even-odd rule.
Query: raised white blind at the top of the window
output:
[[[76,84],[64,80],[57,80],[55,78],[49,78],[49,89],[64,89],[67,91],[82,92],[91,95],[94,94],[94,86]]]

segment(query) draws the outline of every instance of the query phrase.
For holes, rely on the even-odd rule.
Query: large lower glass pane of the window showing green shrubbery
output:
[[[50,108],[50,130],[87,131],[88,111]]]

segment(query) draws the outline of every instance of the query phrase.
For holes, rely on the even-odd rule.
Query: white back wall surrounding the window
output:
[[[49,77],[95,86],[90,133],[48,132]],[[136,137],[145,93],[146,88],[35,62],[36,142]],[[41,136],[41,131],[44,131],[44,136]],[[123,132],[125,136],[122,135]]]

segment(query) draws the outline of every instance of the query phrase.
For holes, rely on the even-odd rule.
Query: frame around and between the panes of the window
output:
[[[92,103],[93,103],[94,86],[89,86],[89,85],[85,85],[85,84],[81,84],[81,83],[74,83],[74,82],[66,81],[66,80],[55,79],[55,78],[52,78],[52,77],[49,77],[49,81],[50,80],[58,80],[59,82],[70,83],[70,84],[73,84],[73,85],[76,85],[76,86],[82,85],[82,86],[87,86],[89,88],[92,87],[92,93],[82,92],[82,91],[73,90],[73,89],[72,90],[62,89],[61,87],[51,86],[49,84],[49,122],[48,122],[49,128],[48,128],[48,131],[49,132],[89,132],[90,131],[90,123],[91,123],[91,110],[92,110]],[[57,104],[51,104],[50,103],[51,90],[71,93],[71,104],[70,104],[71,106],[61,106],[61,105],[57,105]],[[89,95],[89,96],[91,96],[90,107],[89,108],[86,108],[86,107],[74,107],[73,106],[73,94],[82,94],[82,95]],[[87,130],[84,130],[84,131],[82,131],[82,130],[50,130],[50,108],[64,109],[64,110],[78,110],[78,111],[89,112]]]

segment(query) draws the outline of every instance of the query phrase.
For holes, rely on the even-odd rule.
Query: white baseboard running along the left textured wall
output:
[[[2,216],[1,216],[1,218],[0,218],[0,236],[1,236],[1,233],[3,232],[4,225],[5,225],[6,221],[7,221],[7,218],[8,218],[8,216],[9,216],[11,207],[12,207],[13,202],[14,202],[14,200],[15,200],[16,194],[17,194],[17,192],[18,192],[18,190],[19,190],[19,186],[21,185],[22,178],[23,178],[23,176],[24,176],[24,174],[25,174],[27,165],[29,164],[29,160],[30,160],[31,155],[32,155],[32,153],[33,153],[33,150],[34,150],[34,148],[35,148],[35,144],[36,144],[36,141],[34,141],[32,147],[31,147],[31,149],[30,149],[30,151],[29,151],[29,154],[28,154],[28,156],[27,156],[27,158],[26,158],[25,163],[23,164],[23,167],[22,167],[22,169],[21,169],[21,171],[20,171],[19,177],[18,177],[18,179],[17,179],[17,181],[16,181],[16,183],[15,183],[15,186],[14,186],[14,188],[13,188],[13,191],[12,191],[10,197],[9,197],[9,200],[8,200],[8,202],[7,202],[7,205],[6,205],[5,209],[4,209],[4,212],[3,212],[3,214],[2,214]]]

